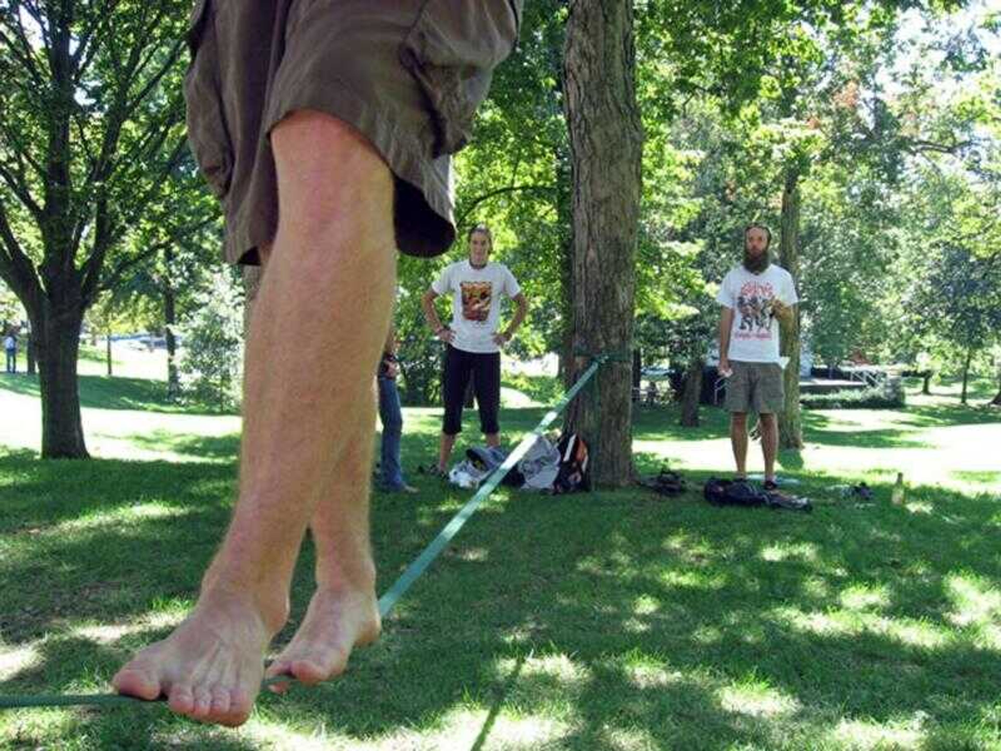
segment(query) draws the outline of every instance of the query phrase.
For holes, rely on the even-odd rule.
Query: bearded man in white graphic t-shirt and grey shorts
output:
[[[744,231],[744,262],[730,269],[716,300],[720,319],[720,374],[727,379],[724,407],[730,412],[730,442],[738,478],[747,477],[749,412],[758,413],[765,455],[765,489],[775,490],[779,449],[778,413],[785,410],[779,325],[789,320],[799,301],[793,277],[769,258],[772,232],[761,224]]]

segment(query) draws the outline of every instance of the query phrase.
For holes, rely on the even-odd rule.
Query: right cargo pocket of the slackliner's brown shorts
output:
[[[493,68],[518,40],[519,1],[426,0],[399,50],[430,108],[433,156],[464,146]]]

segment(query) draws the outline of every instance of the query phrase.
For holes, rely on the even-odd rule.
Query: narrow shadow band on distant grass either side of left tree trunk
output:
[[[176,415],[237,415],[213,405],[177,404],[167,398],[167,385],[151,379],[78,376],[80,407],[94,410],[137,410]],[[18,374],[0,380],[0,389],[28,397],[41,396],[37,376]]]

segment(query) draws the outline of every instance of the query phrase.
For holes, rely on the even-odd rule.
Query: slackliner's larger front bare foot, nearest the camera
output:
[[[166,696],[171,711],[236,726],[260,690],[272,632],[252,606],[202,595],[174,632],[142,650],[112,679],[121,694]]]

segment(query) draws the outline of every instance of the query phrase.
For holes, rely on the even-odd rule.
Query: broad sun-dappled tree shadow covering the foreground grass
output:
[[[231,468],[90,463],[103,482],[78,477],[68,499],[75,483],[60,481],[54,464],[0,461],[0,471],[24,481],[4,498],[4,534],[15,546],[0,564],[13,583],[0,613],[37,613],[30,624],[5,625],[4,638],[39,645],[38,663],[4,681],[5,694],[59,690],[81,673],[109,677],[134,646],[162,636],[108,646],[67,627],[84,618],[128,622],[164,597],[192,598],[228,517]],[[373,505],[379,591],[467,497],[419,485],[417,497],[380,496]],[[342,680],[262,697],[263,716],[293,728],[323,724],[358,742],[433,737],[449,717],[465,717],[478,728],[474,747],[487,748],[515,741],[510,717],[499,719],[512,708],[550,734],[538,745],[583,750],[628,738],[802,748],[842,720],[893,723],[920,711],[934,717],[940,739],[956,742],[993,706],[1001,673],[1001,654],[954,626],[957,577],[1001,577],[991,521],[998,504],[914,489],[920,512],[858,509],[826,500],[816,479],[804,478],[803,491],[817,501],[812,516],[718,509],[691,493],[671,501],[643,492],[502,494]],[[155,502],[178,514],[124,514]],[[121,519],[53,537],[26,530],[109,510]],[[293,585],[296,616],[311,566],[307,546]],[[853,605],[855,589],[879,597]],[[57,604],[65,608],[53,616]],[[922,629],[939,636],[923,638]],[[108,747],[152,736],[164,745],[226,747],[222,738],[251,747],[162,710],[77,713],[66,731]]]

